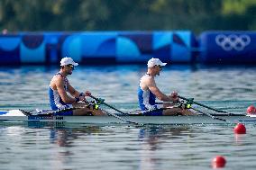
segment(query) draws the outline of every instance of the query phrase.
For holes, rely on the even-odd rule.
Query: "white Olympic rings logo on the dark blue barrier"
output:
[[[251,43],[251,38],[248,35],[224,35],[220,34],[215,37],[215,42],[217,45],[222,47],[224,50],[243,50],[246,46]]]

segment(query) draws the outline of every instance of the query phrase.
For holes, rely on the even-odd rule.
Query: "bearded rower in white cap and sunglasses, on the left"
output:
[[[95,110],[93,107],[87,107],[86,96],[91,93],[79,93],[73,86],[69,84],[67,76],[72,75],[72,72],[78,66],[72,58],[62,58],[60,61],[59,72],[52,77],[49,87],[50,107],[53,111],[65,110],[68,108],[76,108],[67,112],[59,112],[60,115],[104,115],[100,109]],[[68,93],[72,96],[69,96]],[[82,101],[83,103],[79,103]]]

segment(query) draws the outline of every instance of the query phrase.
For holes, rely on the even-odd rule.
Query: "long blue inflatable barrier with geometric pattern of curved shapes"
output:
[[[189,63],[191,31],[18,32],[0,35],[0,65],[57,64],[66,56],[79,64]]]

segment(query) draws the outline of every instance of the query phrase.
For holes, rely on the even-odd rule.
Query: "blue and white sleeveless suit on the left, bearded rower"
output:
[[[61,73],[57,73],[55,76],[58,76],[58,75],[60,75],[64,79],[64,89],[66,92],[68,92],[68,84],[69,84],[68,78],[62,76]],[[64,103],[58,93],[58,90],[53,90],[50,86],[49,86],[49,98],[50,98],[50,107],[53,111],[72,108],[72,104]],[[59,112],[59,113],[56,113],[55,115],[71,116],[73,115],[73,111]]]

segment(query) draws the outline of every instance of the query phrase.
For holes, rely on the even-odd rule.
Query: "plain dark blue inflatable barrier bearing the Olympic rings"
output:
[[[206,64],[253,64],[256,31],[205,31],[199,48],[200,60]]]

